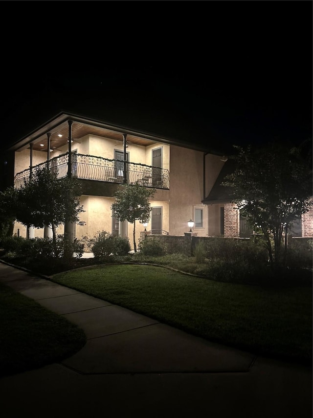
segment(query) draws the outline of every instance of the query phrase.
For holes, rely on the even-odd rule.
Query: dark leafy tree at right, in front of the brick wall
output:
[[[313,204],[310,152],[275,143],[234,148],[236,153],[229,158],[235,160],[236,169],[222,185],[229,187],[233,202],[254,230],[264,234],[271,266],[281,266],[287,257],[288,230]]]

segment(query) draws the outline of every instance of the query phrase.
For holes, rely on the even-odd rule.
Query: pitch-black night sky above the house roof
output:
[[[60,23],[73,2],[24,3],[39,14],[2,52],[2,147],[95,104],[225,151],[312,138],[312,1],[76,1]]]

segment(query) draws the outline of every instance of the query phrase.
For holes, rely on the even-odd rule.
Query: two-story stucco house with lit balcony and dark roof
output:
[[[133,225],[116,219],[111,206],[120,184],[136,182],[156,189],[148,225],[137,224],[137,242],[145,228],[153,234],[183,235],[191,219],[198,236],[238,237],[244,229],[238,210],[219,190],[229,162],[205,145],[182,145],[179,138],[61,113],[15,142],[9,152],[14,154],[15,187],[47,161],[60,176],[80,181],[85,210],[80,219],[85,225],[65,225],[77,238],[101,230],[131,237]],[[26,231],[16,222],[14,233],[18,230],[23,237],[52,235],[49,228]],[[62,234],[64,227],[58,232]],[[302,235],[306,236],[305,228]]]

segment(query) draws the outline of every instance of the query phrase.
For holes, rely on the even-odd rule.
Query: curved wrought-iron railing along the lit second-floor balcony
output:
[[[58,173],[58,177],[67,175],[68,153],[51,158],[32,168],[33,175],[37,168],[49,165],[50,170]],[[145,187],[156,189],[169,189],[169,171],[159,167],[147,166],[146,164],[124,162],[121,160],[110,160],[108,158],[96,157],[93,155],[71,154],[72,176],[80,179],[107,181],[111,183],[123,183],[124,169],[126,169],[126,180],[129,184],[138,183]],[[29,181],[30,169],[23,170],[16,174],[14,187],[21,187],[24,182]]]

